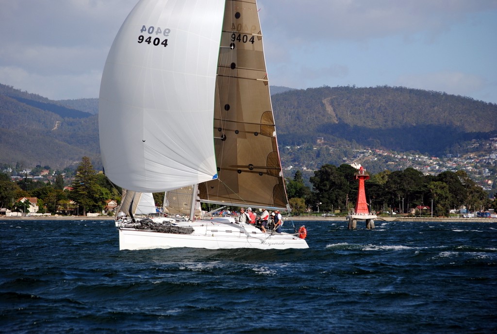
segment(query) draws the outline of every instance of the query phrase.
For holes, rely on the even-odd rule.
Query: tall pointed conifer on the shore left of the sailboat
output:
[[[83,161],[76,169],[76,176],[71,186],[73,190],[69,198],[83,207],[83,216],[86,216],[86,210],[103,207],[103,190],[96,182],[96,172],[91,165],[90,158],[83,157]]]

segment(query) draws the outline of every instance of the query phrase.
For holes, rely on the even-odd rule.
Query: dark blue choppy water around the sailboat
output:
[[[0,332],[497,333],[497,224],[297,223],[309,250],[118,251],[110,220],[0,221]]]

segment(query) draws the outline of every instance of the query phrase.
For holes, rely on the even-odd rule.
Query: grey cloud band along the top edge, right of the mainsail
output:
[[[258,4],[263,28],[270,25],[280,37],[309,42],[437,34],[471,19],[473,13],[497,8],[495,0],[261,0]]]

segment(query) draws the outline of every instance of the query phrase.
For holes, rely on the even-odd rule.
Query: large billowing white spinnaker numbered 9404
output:
[[[141,0],[126,18],[99,97],[102,162],[113,183],[162,192],[215,178],[224,6],[224,0]]]

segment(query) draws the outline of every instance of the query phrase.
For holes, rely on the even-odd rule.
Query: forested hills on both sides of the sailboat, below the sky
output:
[[[465,141],[497,137],[497,105],[467,97],[387,86],[271,92],[280,145],[323,137],[330,146],[440,156]],[[87,156],[101,168],[97,109],[97,98],[53,101],[0,84],[0,165],[62,169]]]

